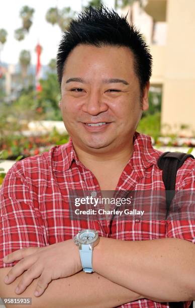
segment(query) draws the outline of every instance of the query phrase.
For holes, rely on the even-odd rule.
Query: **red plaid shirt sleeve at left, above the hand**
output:
[[[17,172],[8,172],[0,190],[0,268],[14,266],[3,258],[24,247],[44,247],[47,244],[44,223],[37,196],[30,183]]]

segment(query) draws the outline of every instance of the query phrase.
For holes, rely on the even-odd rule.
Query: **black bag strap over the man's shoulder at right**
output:
[[[158,159],[158,167],[163,171],[162,179],[164,182],[166,192],[166,217],[168,215],[169,206],[174,197],[175,190],[175,180],[177,175],[177,170],[183,165],[184,161],[191,157],[190,154],[179,153],[179,152],[165,152]],[[184,304],[180,302],[169,302],[170,308],[183,308]],[[190,307],[193,307],[193,302],[191,302]]]

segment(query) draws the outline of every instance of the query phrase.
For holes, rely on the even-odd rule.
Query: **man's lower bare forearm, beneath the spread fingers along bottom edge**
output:
[[[52,280],[39,297],[34,296],[38,278],[34,279],[23,293],[16,294],[14,290],[24,274],[6,285],[4,278],[10,269],[0,269],[0,297],[32,297],[31,307],[107,308],[142,298],[139,294],[97,273],[86,274],[82,271],[67,278]],[[11,306],[6,305],[6,307]],[[17,305],[17,307],[20,306]],[[24,305],[21,307],[24,308]]]

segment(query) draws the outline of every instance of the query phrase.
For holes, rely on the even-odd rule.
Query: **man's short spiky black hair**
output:
[[[106,45],[129,47],[134,55],[134,69],[139,79],[141,92],[150,80],[152,56],[141,33],[129,25],[126,17],[101,6],[88,7],[70,22],[64,32],[57,53],[57,75],[61,85],[66,59],[78,44],[102,47]]]

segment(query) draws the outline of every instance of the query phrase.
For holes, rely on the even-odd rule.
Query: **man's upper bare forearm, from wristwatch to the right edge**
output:
[[[101,238],[92,266],[143,297],[184,301],[195,298],[194,257],[194,244],[182,239],[128,242]]]

